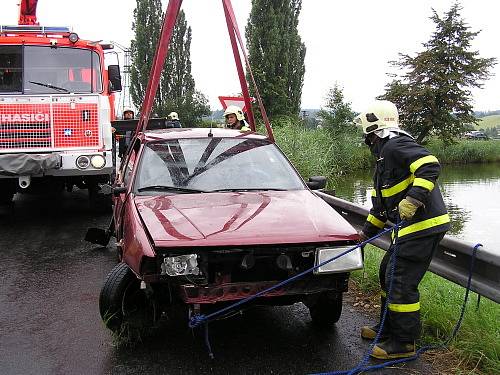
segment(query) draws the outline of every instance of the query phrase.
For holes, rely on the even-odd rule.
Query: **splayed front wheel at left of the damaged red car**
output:
[[[118,334],[151,328],[157,315],[156,303],[125,263],[117,264],[106,277],[99,312],[106,327]]]

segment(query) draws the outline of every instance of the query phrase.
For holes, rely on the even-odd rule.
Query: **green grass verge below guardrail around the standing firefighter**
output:
[[[353,273],[360,288],[379,293],[378,265],[384,251],[365,248],[365,269]],[[463,304],[465,289],[427,272],[420,287],[423,323],[422,345],[441,343],[455,326]],[[476,310],[477,294],[471,293],[460,331],[451,348],[460,354],[464,367],[486,374],[500,374],[500,305],[483,298]],[[458,370],[457,370],[458,371]]]

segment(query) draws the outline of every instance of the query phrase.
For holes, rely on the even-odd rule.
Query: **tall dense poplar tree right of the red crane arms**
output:
[[[297,115],[300,110],[306,55],[297,29],[301,7],[302,0],[252,0],[245,30],[247,49],[272,117]]]

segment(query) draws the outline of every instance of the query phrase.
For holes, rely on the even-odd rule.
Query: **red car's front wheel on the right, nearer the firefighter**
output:
[[[321,293],[308,307],[315,326],[330,327],[342,314],[342,293]]]

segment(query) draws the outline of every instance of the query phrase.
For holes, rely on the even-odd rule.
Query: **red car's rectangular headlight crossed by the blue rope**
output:
[[[334,258],[343,252],[352,249],[353,246],[339,247],[320,247],[316,249],[316,260],[314,265],[317,266],[328,259]],[[347,253],[340,258],[337,258],[329,263],[322,265],[314,270],[315,274],[339,273],[359,270],[363,268],[363,256],[361,249],[356,249]]]

